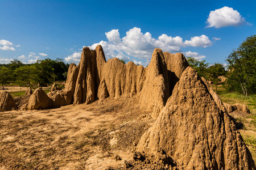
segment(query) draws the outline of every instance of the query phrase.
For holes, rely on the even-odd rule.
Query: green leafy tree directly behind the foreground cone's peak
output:
[[[187,61],[189,66],[197,71],[199,76],[208,79],[208,66],[209,63],[205,63],[205,60],[200,61],[199,59],[195,59],[193,57],[187,57]]]

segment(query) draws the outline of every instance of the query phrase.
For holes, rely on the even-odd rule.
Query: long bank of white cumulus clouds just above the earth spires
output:
[[[146,65],[151,59],[152,52],[155,48],[161,48],[163,51],[170,53],[181,52],[182,47],[195,46],[207,47],[212,45],[208,36],[201,35],[192,37],[191,40],[183,41],[180,36],[171,37],[166,34],[160,35],[157,39],[152,37],[151,33],[142,33],[141,28],[134,27],[126,32],[126,36],[120,37],[118,29],[105,33],[108,41],[100,41],[89,46],[95,49],[97,45],[101,45],[104,49],[106,59],[117,57],[125,61],[144,60]],[[75,52],[71,56],[65,58],[66,62],[80,61],[81,53]]]

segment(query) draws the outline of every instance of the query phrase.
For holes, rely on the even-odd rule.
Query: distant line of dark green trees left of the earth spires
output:
[[[14,59],[8,64],[0,64],[0,83],[2,85],[16,82],[23,87],[42,87],[55,81],[65,80],[68,63],[57,58],[38,60],[36,63],[24,64]]]

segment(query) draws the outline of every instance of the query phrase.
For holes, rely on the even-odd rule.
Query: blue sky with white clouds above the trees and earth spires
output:
[[[101,44],[106,58],[148,65],[154,48],[225,63],[256,34],[256,1],[0,1],[0,63],[63,58]]]

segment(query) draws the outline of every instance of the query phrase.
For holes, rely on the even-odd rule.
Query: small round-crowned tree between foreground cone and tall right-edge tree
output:
[[[220,76],[224,76],[226,74],[225,67],[220,63],[214,63],[214,65],[208,67],[208,73],[208,79],[216,86],[217,92],[217,85],[220,84],[221,81]]]

